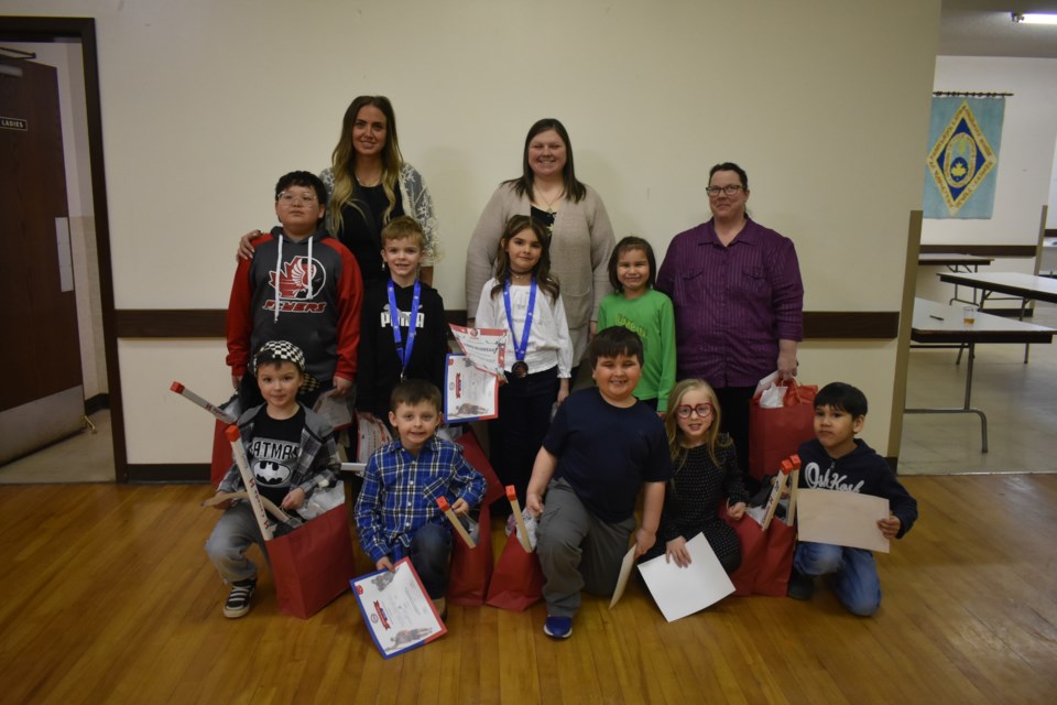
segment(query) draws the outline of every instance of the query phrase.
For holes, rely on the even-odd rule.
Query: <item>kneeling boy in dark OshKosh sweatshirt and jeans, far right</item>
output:
[[[800,445],[799,487],[884,497],[891,513],[878,521],[886,539],[902,539],[917,519],[917,501],[896,479],[883,457],[856,438],[867,420],[867,398],[843,382],[832,382],[815,397],[815,438]],[[881,582],[873,554],[803,541],[793,555],[789,597],[809,599],[816,575],[832,575],[837,599],[850,612],[870,617],[881,606]]]

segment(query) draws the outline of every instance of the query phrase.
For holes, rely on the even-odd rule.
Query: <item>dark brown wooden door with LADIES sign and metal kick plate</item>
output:
[[[57,72],[14,65],[0,74],[0,463],[84,414]]]

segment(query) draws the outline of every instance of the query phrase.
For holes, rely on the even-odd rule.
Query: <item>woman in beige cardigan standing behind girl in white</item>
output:
[[[578,365],[595,333],[598,304],[612,291],[608,264],[613,227],[599,195],[577,181],[569,133],[554,118],[538,120],[528,130],[522,175],[499,185],[470,238],[466,252],[470,325],[481,289],[494,273],[500,235],[515,215],[531,215],[551,232],[551,273],[562,285],[573,360]]]

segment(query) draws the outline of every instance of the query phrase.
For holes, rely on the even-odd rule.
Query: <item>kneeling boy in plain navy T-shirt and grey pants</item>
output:
[[[642,340],[628,328],[607,328],[591,340],[588,355],[598,387],[570,394],[558,408],[525,501],[540,518],[543,632],[555,639],[573,633],[581,589],[612,595],[633,532],[635,557],[656,542],[664,485],[672,476],[664,424],[632,395],[642,377]],[[642,525],[635,531],[643,486]]]

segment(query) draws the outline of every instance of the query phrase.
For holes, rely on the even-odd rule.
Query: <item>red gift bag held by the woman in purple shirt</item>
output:
[[[788,380],[785,405],[764,409],[760,394],[749,403],[749,474],[755,479],[774,475],[782,460],[815,437],[815,384],[797,384]]]

